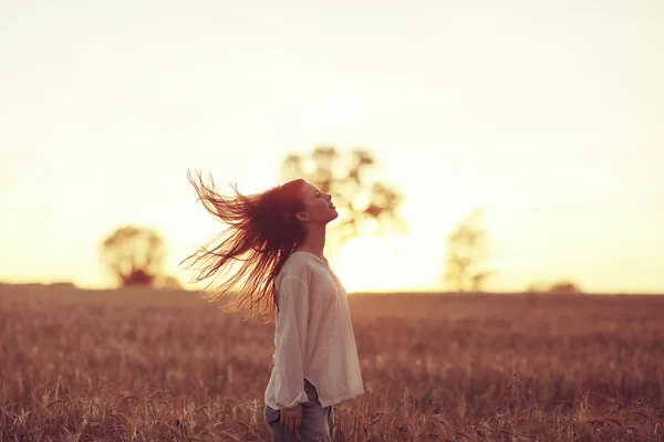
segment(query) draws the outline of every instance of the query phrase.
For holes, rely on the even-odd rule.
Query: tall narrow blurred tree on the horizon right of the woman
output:
[[[447,259],[444,280],[457,292],[479,292],[494,274],[485,269],[487,231],[481,222],[483,212],[476,209],[463,219],[447,236]]]

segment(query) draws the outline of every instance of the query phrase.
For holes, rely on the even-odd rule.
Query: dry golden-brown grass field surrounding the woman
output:
[[[269,440],[272,325],[196,294],[0,288],[0,440]],[[338,440],[663,441],[664,297],[353,295]]]

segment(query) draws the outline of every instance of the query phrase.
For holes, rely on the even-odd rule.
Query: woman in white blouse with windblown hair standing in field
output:
[[[323,256],[331,197],[297,179],[232,198],[188,175],[205,208],[229,228],[185,261],[197,281],[222,275],[214,298],[237,293],[231,309],[274,318],[264,419],[274,441],[331,441],[332,407],[362,394],[347,295]],[[232,270],[232,274],[229,271]]]

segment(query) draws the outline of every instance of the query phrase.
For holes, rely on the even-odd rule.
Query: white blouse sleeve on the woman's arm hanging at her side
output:
[[[279,409],[292,408],[309,398],[304,392],[304,350],[309,320],[309,287],[294,276],[279,285],[279,318],[276,324],[276,402]]]

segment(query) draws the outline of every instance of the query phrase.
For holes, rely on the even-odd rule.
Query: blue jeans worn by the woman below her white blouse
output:
[[[300,436],[303,442],[331,442],[334,432],[334,410],[332,406],[321,407],[315,387],[304,379],[304,391],[309,401],[302,403],[302,425]],[[298,439],[279,422],[281,411],[266,406],[264,418],[274,442],[294,442]]]

